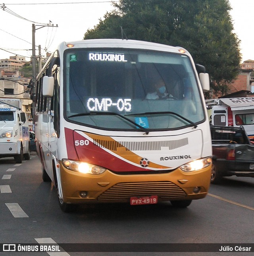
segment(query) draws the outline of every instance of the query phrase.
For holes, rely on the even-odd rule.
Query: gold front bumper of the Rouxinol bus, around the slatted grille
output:
[[[63,200],[67,204],[127,203],[131,197],[158,196],[160,201],[204,198],[210,186],[211,165],[192,172],[100,175],[66,169],[60,162]]]

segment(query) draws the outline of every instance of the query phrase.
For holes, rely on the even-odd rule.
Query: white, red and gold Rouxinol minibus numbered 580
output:
[[[212,146],[204,66],[180,47],[121,39],[61,43],[37,76],[42,179],[60,207],[187,207],[208,193]]]

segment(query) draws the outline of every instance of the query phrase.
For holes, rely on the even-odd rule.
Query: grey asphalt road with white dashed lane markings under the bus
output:
[[[192,201],[185,209],[170,202],[148,206],[103,204],[79,206],[64,213],[50,182],[43,182],[35,152],[31,159],[16,164],[0,159],[0,246],[43,243],[58,245],[65,252],[1,252],[1,255],[232,255],[232,252],[188,252],[201,244],[237,246],[254,242],[254,178],[229,177],[221,185],[211,185],[206,198]],[[77,243],[75,245],[75,243]],[[79,244],[123,244],[141,252],[85,252]],[[71,252],[69,248],[76,246]],[[176,244],[177,252],[160,252]],[[183,244],[181,246],[181,244]],[[105,244],[104,244],[105,246]],[[153,252],[147,252],[153,246]],[[235,245],[234,245],[235,246]],[[251,245],[252,246],[252,245]],[[244,246],[245,247],[245,246]],[[7,247],[6,247],[7,248]],[[6,249],[5,248],[5,249]],[[58,248],[58,247],[56,247]],[[98,247],[99,248],[99,247]],[[155,248],[155,249],[154,249]],[[180,248],[180,249],[179,249]],[[202,247],[204,248],[204,247]],[[227,247],[225,247],[227,249]],[[235,248],[235,247],[234,247]],[[1,248],[0,248],[1,249]],[[105,247],[104,247],[105,249]],[[61,249],[62,250],[62,249]],[[121,250],[121,249],[120,249]],[[134,249],[135,250],[135,249]],[[156,251],[158,250],[158,251]],[[179,250],[179,251],[178,251]],[[187,252],[183,252],[186,251]],[[230,246],[228,247],[230,250]],[[236,252],[251,255],[254,252]]]

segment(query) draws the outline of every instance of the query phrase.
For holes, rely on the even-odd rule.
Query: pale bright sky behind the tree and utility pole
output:
[[[46,56],[46,51],[53,52],[63,41],[82,40],[87,29],[92,29],[99,23],[99,19],[103,19],[106,12],[114,9],[109,0],[3,2],[4,10],[3,4],[0,4],[0,59],[17,54],[24,56],[27,61],[32,55],[33,23],[36,25],[35,45],[41,45],[42,55]],[[229,0],[229,2],[232,8],[230,14],[234,33],[241,40],[242,62],[248,59],[254,60],[252,42],[254,0]],[[43,27],[44,24],[54,24],[54,26],[57,24],[58,27]],[[120,29],[119,33],[121,33]]]

